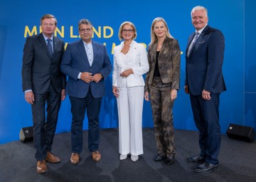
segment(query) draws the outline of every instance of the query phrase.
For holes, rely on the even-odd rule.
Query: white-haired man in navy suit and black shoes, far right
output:
[[[219,163],[219,98],[226,90],[222,73],[225,41],[223,33],[208,26],[206,8],[196,6],[191,18],[196,33],[188,38],[184,89],[190,95],[201,152],[187,161],[200,164],[194,171],[208,173],[217,170]]]

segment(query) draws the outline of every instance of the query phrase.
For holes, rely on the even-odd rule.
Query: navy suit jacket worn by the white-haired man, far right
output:
[[[188,38],[186,47],[186,80],[185,85],[192,95],[202,95],[202,91],[220,93],[226,90],[222,66],[225,40],[218,29],[206,26],[191,48],[188,46],[195,33]]]

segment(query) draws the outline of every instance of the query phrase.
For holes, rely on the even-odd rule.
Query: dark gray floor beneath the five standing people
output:
[[[84,150],[80,164],[70,164],[70,133],[56,134],[53,154],[60,164],[47,164],[47,173],[36,172],[33,142],[14,141],[0,145],[0,181],[256,181],[256,142],[248,143],[222,136],[219,154],[220,169],[211,173],[193,172],[194,164],[186,158],[198,154],[198,132],[176,130],[176,161],[167,166],[155,162],[154,129],[144,129],[144,154],[137,162],[119,161],[118,130],[101,131],[102,160],[92,161],[87,150],[87,131],[84,131]]]

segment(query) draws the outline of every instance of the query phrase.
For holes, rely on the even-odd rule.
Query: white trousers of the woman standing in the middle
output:
[[[117,98],[119,153],[143,154],[142,110],[144,87],[121,87]]]

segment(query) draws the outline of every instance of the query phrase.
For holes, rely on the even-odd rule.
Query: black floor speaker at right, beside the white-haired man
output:
[[[238,124],[230,124],[226,134],[233,139],[240,139],[243,141],[255,141],[255,131],[252,127],[245,127]]]

